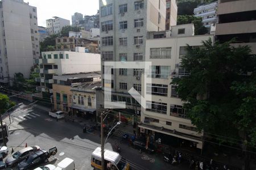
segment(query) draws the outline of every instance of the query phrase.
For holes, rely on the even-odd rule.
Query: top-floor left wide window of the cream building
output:
[[[171,58],[171,52],[172,48],[150,48],[150,58],[151,59],[165,59],[165,58]]]

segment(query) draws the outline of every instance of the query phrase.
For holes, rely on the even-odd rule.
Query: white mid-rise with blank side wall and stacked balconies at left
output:
[[[82,50],[81,47],[76,47],[76,52],[42,52],[42,58],[35,59],[34,62],[39,65],[39,69],[35,69],[35,72],[40,73],[40,78],[36,78],[40,86],[36,90],[49,93],[52,93],[53,75],[85,73],[101,69],[100,54],[85,53],[85,48]]]

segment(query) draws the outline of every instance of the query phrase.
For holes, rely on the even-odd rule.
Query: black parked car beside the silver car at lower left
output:
[[[18,164],[17,170],[25,170],[35,168],[38,165],[48,162],[48,158],[51,155],[55,155],[57,148],[53,147],[47,152],[46,150],[40,149],[27,156],[22,162]]]

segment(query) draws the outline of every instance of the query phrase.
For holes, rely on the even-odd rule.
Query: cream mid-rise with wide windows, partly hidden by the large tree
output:
[[[151,132],[155,140],[161,136],[170,135],[181,141],[190,141],[196,144],[197,148],[202,148],[202,133],[197,133],[196,127],[191,124],[191,120],[186,116],[183,109],[183,101],[176,93],[176,86],[170,84],[172,78],[186,76],[189,73],[180,67],[181,58],[186,54],[186,46],[201,46],[201,42],[214,39],[213,35],[193,36],[191,29],[193,24],[177,25],[172,30],[177,29],[177,35],[166,32],[166,37],[158,36],[162,32],[153,32],[153,36],[146,40],[145,61],[152,62],[151,73],[147,77],[152,78],[151,83],[146,83],[144,87],[144,76],[142,76],[142,95],[147,100],[151,95],[151,100],[146,104],[151,105],[151,109],[141,108],[141,124],[138,126]],[[187,31],[188,30],[188,31]],[[143,73],[144,74],[144,73]],[[157,136],[157,137],[156,137]],[[163,139],[162,139],[163,142]],[[170,142],[170,141],[169,141]]]

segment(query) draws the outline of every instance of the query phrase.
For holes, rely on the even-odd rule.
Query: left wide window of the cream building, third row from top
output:
[[[167,96],[168,85],[147,83],[146,92],[151,95]]]

